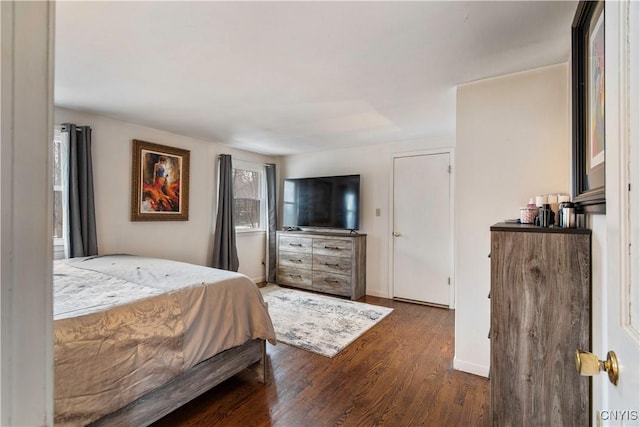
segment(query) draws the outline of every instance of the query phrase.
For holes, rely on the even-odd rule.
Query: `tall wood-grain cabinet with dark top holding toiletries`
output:
[[[591,231],[491,227],[490,298],[493,425],[589,425]]]

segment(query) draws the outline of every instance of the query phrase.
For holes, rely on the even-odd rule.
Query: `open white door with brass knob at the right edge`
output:
[[[606,375],[594,378],[594,392],[602,393],[594,395],[595,424],[639,426],[640,3],[606,2],[605,8],[605,28],[611,29],[606,30],[606,67],[607,73],[612,72],[606,88],[607,172],[609,162],[613,167],[607,173],[606,294],[602,300],[594,299],[606,313],[602,340],[606,347],[594,352],[606,359],[606,352],[614,351],[620,377],[615,386]],[[609,62],[609,55],[614,63]],[[610,91],[614,88],[621,90]]]

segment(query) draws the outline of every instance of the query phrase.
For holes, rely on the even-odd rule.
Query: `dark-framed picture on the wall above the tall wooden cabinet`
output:
[[[604,1],[581,1],[571,28],[574,199],[605,213]]]

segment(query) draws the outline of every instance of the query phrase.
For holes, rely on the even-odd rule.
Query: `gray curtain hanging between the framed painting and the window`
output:
[[[231,155],[219,157],[220,182],[218,186],[218,213],[216,232],[213,236],[213,266],[224,270],[238,271],[238,249],[236,248],[236,225],[233,218],[233,166]]]

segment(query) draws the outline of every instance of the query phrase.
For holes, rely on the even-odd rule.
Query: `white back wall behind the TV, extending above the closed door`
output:
[[[360,232],[367,234],[367,295],[391,298],[389,198],[392,155],[454,145],[453,137],[424,138],[287,156],[282,159],[280,191],[283,178],[360,174]],[[380,216],[375,215],[377,208]]]

